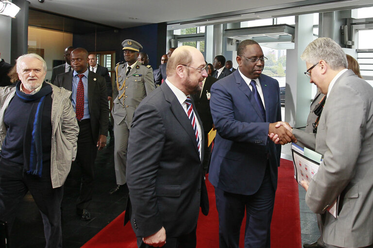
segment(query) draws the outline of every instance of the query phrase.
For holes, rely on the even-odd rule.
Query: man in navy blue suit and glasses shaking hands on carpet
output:
[[[211,114],[218,133],[209,180],[215,186],[220,248],[238,248],[246,210],[245,248],[270,248],[270,226],[277,187],[281,142],[295,140],[281,121],[277,80],[262,74],[266,58],[253,40],[237,47],[238,70],[211,87]]]

